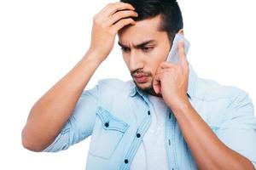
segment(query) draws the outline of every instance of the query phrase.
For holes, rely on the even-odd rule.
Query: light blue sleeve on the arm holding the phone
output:
[[[217,131],[218,138],[230,149],[247,157],[256,167],[256,118],[253,102],[241,91],[224,111],[224,120]]]

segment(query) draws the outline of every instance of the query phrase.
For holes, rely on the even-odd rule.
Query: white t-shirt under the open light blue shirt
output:
[[[151,111],[152,121],[136,156],[131,161],[130,170],[167,170],[166,153],[166,110],[164,99],[148,95],[154,111]]]

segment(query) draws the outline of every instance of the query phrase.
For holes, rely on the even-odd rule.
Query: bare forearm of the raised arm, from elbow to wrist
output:
[[[22,144],[29,150],[44,150],[61,131],[83,93],[99,61],[87,52],[77,65],[62,77],[32,106],[22,130]]]

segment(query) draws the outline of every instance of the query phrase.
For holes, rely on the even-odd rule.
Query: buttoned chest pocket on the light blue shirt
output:
[[[96,122],[90,139],[89,153],[93,156],[109,159],[119,145],[129,125],[99,107]]]

